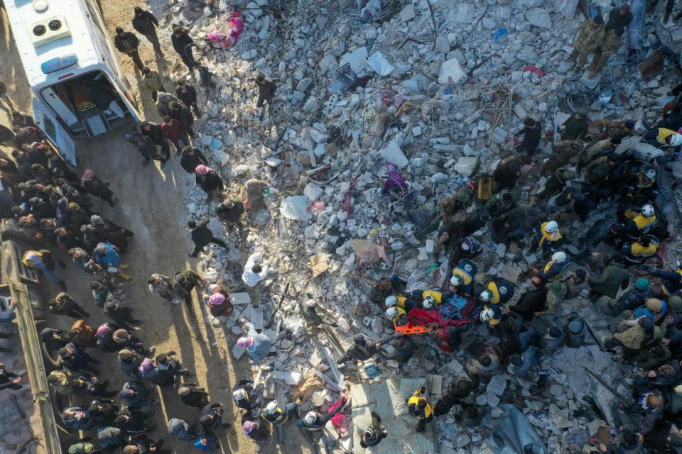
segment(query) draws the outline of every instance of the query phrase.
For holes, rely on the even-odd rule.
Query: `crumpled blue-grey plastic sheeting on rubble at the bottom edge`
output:
[[[499,408],[505,414],[487,439],[495,454],[548,454],[535,428],[516,406],[500,404]]]

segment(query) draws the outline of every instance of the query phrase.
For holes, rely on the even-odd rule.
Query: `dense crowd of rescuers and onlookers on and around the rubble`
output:
[[[666,22],[669,16],[666,10]],[[600,14],[585,21],[569,60],[584,67],[592,57],[588,77],[595,77],[621,47],[631,21],[627,4],[612,9],[606,21]],[[153,14],[136,7],[132,26],[163,57]],[[143,121],[126,133],[126,140],[136,146],[145,164],[158,160],[162,166],[171,159],[173,145],[180,166],[193,175],[207,201],[215,196],[222,199],[215,216],[226,226],[239,228],[244,203],[224,193],[226,186],[219,172],[193,145],[193,123],[200,116],[197,90],[180,79],[175,94],[166,92],[160,74],[141,61],[139,38],[124,28],[117,28],[116,33],[115,47],[132,58],[141,72],[141,89],[151,96],[163,118],[161,124]],[[174,26],[171,41],[193,71],[198,64],[187,31]],[[263,74],[254,80],[259,89],[256,107],[261,108],[271,103],[276,85]],[[588,113],[575,111],[561,124],[561,137],[554,140],[551,155],[537,153],[543,121],[525,118],[515,135],[513,151],[510,149],[492,172],[489,194],[470,185],[440,200],[443,222],[436,248],[448,257],[445,264],[439,264],[441,268],[446,265],[447,277],[438,287],[410,292],[396,274],[379,280],[369,300],[393,329],[378,342],[360,334],[353,336],[352,345],[337,362],[349,367],[377,358],[402,367],[424,343],[437,346],[443,357],[448,357],[462,350],[466,340],[466,376],[452,380],[433,404],[425,387],[406,399],[409,414],[416,418],[416,431],[422,432],[428,423],[450,412],[459,426],[477,426],[485,408],[475,404],[473,396],[480,384],[505,370],[531,395],[543,392],[549,375],[542,367],[543,360],[560,348],[580,348],[593,339],[599,348],[614,353],[615,360],[636,367],[638,372],[629,399],[616,400],[620,403],[608,409],[617,434],[613,443],[608,447],[587,443],[583,452],[634,453],[642,447],[671,452],[681,447],[682,432],[671,428],[682,424],[682,265],[679,260],[670,269],[665,264],[666,245],[675,232],[666,216],[670,188],[660,184],[669,181],[669,162],[678,160],[682,150],[681,93],[682,84],[672,90],[673,100],[648,128],[619,119],[602,122],[598,133],[590,133]],[[147,420],[159,404],[153,387],[175,387],[180,402],[200,409],[195,419],[185,414],[170,417],[168,433],[180,441],[191,441],[199,450],[214,452],[220,434],[231,426],[223,420],[222,404],[212,402],[197,382],[187,381],[193,372],[183,367],[175,352],[157,354],[155,346],[142,341],[141,321],[123,304],[122,282],[131,279],[123,258],[133,233],[97,214],[92,201],[97,197],[116,205],[109,184],[92,170],[76,175],[51,148],[33,118],[14,109],[3,84],[0,101],[0,108],[9,106],[6,110],[13,130],[8,140],[14,148],[12,160],[0,159],[0,172],[18,203],[12,209],[16,222],[36,245],[22,261],[60,287],[61,292],[48,301],[50,313],[74,319],[68,330],[40,328],[45,349],[58,358],[58,367],[48,375],[50,386],[58,394],[82,402],[62,412],[67,426],[87,434],[72,443],[68,452],[113,452],[119,448],[124,454],[169,452],[163,441],[150,437],[156,428]],[[531,185],[531,194],[521,203],[525,198],[521,187],[533,181],[541,184]],[[571,223],[580,229],[571,231]],[[230,247],[210,229],[210,218],[190,220],[187,228],[195,245],[188,251],[191,258],[197,258],[210,244],[224,250]],[[526,282],[512,282],[500,273],[482,273],[491,265],[496,270],[504,267],[500,263],[504,253],[500,256],[489,250],[483,239],[487,237],[503,244],[504,250],[518,251],[517,259],[533,264],[522,277]],[[109,321],[97,328],[88,324],[93,306],[67,293],[61,277],[66,264],[50,252],[55,248],[67,253],[90,280],[92,304]],[[268,273],[261,254],[251,255],[244,265],[242,281],[254,306],[261,299],[259,282]],[[208,284],[191,270],[180,270],[172,277],[155,273],[147,284],[153,294],[171,304],[185,301],[188,309],[193,291],[205,289],[213,317],[229,316],[234,309],[224,284]],[[608,336],[595,333],[590,321],[574,310],[579,306],[577,299],[589,301],[590,311],[607,320]],[[0,298],[0,323],[14,318],[15,307],[16,301]],[[315,301],[300,307],[308,326],[323,323]],[[244,336],[236,345],[259,365],[272,355],[271,338],[246,320],[240,323]],[[475,328],[480,324],[489,336],[477,335]],[[7,336],[0,333],[0,338]],[[391,348],[384,349],[388,343]],[[120,373],[126,377],[120,390],[111,389],[109,380],[101,377],[99,354],[90,354],[94,351],[117,355]],[[276,401],[263,402],[259,386],[249,378],[232,388],[241,415],[240,428],[254,441],[269,438],[271,428],[282,431],[290,418],[310,436],[347,408],[343,396],[328,411],[301,415],[303,395],[289,399],[282,408]],[[21,377],[1,364],[0,389],[23,389]],[[605,409],[593,399],[583,400],[585,415],[604,417]],[[630,422],[624,423],[622,414],[628,414]],[[391,438],[390,428],[382,425],[374,412],[371,425],[360,432],[364,448]]]

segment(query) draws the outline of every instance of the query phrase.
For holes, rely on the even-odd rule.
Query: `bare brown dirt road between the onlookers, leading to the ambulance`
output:
[[[104,18],[112,36],[115,27],[119,25],[126,29],[130,27],[133,6],[130,2],[120,0],[102,2]],[[153,8],[151,10],[161,19],[162,11]],[[30,111],[30,94],[16,48],[11,41],[11,34],[7,30],[6,17],[3,17],[0,33],[0,45],[3,46],[1,53],[6,59],[5,64],[0,67],[0,80],[8,85],[9,94],[16,100],[18,108]],[[159,32],[160,35],[162,33],[170,33],[168,25],[164,31]],[[152,55],[151,45],[142,37],[141,40],[142,59],[146,65],[156,67],[157,62]],[[168,48],[166,55],[173,55],[173,50]],[[127,74],[131,74],[129,80],[136,87],[137,77],[132,77],[134,72],[131,62],[126,57],[119,60],[124,64]],[[173,85],[168,83],[166,88],[170,90],[171,87]],[[144,101],[144,116],[151,121],[158,121],[148,95],[143,96],[141,100]],[[1,112],[0,121],[7,123]],[[174,306],[164,302],[161,298],[149,294],[146,288],[146,279],[153,272],[173,275],[179,270],[193,268],[195,265],[195,261],[188,258],[192,245],[182,223],[185,213],[183,194],[186,185],[193,182],[185,175],[178,159],[172,160],[163,169],[158,167],[156,162],[146,167],[141,165],[142,157],[123,138],[123,134],[130,126],[97,138],[83,140],[77,146],[80,161],[78,172],[85,169],[95,170],[104,181],[111,183],[111,189],[120,200],[117,206],[111,208],[108,204],[95,199],[94,211],[135,233],[131,247],[124,256],[124,262],[131,265],[129,274],[133,276],[133,280],[126,284],[124,304],[134,307],[136,318],[144,321],[142,325],[144,342],[147,345],[156,345],[157,353],[175,351],[184,367],[196,371],[196,377],[191,377],[188,381],[198,382],[201,386],[207,387],[212,401],[224,403],[224,421],[237,423],[237,427],[230,428],[227,435],[220,438],[221,447],[218,452],[256,452],[256,445],[242,435],[239,418],[236,417],[237,413],[232,405],[232,384],[249,374],[247,355],[239,362],[234,362],[229,355],[229,348],[235,341],[234,335],[230,333],[226,338],[222,333],[216,335],[213,328],[207,329],[205,323],[207,311],[196,298],[192,309],[188,310],[184,304]],[[89,324],[97,327],[106,321],[104,314],[92,304],[87,275],[72,266],[67,267],[64,274],[68,292],[90,311]],[[58,290],[51,289],[50,292],[56,293]],[[48,319],[50,326],[63,329],[67,329],[71,322],[72,320],[67,317]],[[116,363],[115,355],[102,355],[97,351],[93,354],[102,360],[103,377],[112,382],[112,387],[120,389],[125,380]],[[158,398],[161,399],[160,407],[148,407],[148,410],[153,411],[153,425],[157,427],[152,437],[164,438],[166,447],[173,448],[173,453],[187,452],[190,444],[171,439],[166,431],[166,423],[173,417],[195,421],[199,411],[183,405],[174,388],[164,389],[158,394]],[[280,450],[274,443],[262,443],[261,452],[292,454],[310,452],[307,442],[303,441],[296,426],[292,422],[288,424],[291,426],[288,426],[286,446]]]

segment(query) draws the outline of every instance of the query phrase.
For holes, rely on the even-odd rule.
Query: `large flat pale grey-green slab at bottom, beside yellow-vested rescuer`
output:
[[[362,431],[372,423],[372,411],[376,411],[381,423],[390,428],[385,441],[372,448],[374,454],[395,453],[435,453],[436,441],[433,431],[416,433],[417,420],[407,411],[405,400],[426,380],[423,378],[391,379],[372,384],[354,384],[350,387],[351,401],[366,404],[353,407],[350,416],[353,420],[353,453],[364,454],[360,447]],[[373,402],[373,403],[372,403]]]

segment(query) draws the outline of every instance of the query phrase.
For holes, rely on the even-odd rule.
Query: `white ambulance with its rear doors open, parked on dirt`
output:
[[[140,121],[97,0],[4,4],[31,87],[33,116],[67,162],[77,164],[75,139],[106,133],[126,117]]]

